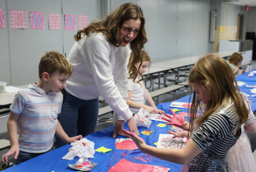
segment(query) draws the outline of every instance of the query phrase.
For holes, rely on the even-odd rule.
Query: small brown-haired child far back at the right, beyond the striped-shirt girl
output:
[[[228,58],[228,64],[230,65],[231,69],[235,76],[241,75],[245,73],[246,69],[240,70],[238,67],[243,61],[243,56],[239,53],[233,53],[230,58]]]

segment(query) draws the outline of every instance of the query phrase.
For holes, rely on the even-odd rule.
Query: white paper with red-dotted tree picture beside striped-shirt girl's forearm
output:
[[[187,138],[173,138],[173,134],[160,134],[157,147],[159,148],[183,148]]]

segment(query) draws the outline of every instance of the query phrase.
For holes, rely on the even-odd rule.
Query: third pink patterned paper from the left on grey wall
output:
[[[44,13],[30,11],[30,28],[44,29]]]

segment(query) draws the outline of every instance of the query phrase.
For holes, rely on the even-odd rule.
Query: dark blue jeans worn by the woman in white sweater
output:
[[[99,112],[99,99],[83,100],[63,92],[63,105],[58,120],[69,137],[94,133]],[[55,148],[64,146],[56,137]]]

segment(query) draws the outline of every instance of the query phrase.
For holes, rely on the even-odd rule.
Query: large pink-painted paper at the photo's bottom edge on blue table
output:
[[[126,172],[141,172],[141,171],[156,172],[156,171],[161,171],[161,172],[166,172],[166,171],[169,171],[169,170],[170,169],[168,169],[166,167],[134,163],[134,162],[127,161],[126,159],[121,159],[116,165],[111,167],[111,169],[108,170],[108,172],[119,172],[119,171],[126,171]]]

